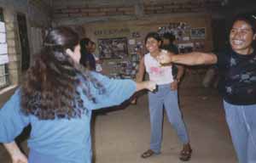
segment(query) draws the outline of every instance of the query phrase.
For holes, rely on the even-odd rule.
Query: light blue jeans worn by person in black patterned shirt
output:
[[[234,105],[224,101],[226,121],[240,163],[256,162],[256,104]]]

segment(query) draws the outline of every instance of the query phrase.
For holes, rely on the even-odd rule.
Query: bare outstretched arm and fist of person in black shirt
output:
[[[214,53],[192,52],[178,55],[173,55],[172,53],[162,54],[158,60],[160,64],[211,65],[216,64],[218,58]]]

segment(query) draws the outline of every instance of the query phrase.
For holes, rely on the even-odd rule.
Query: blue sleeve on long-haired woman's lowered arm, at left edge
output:
[[[28,123],[29,117],[20,111],[20,89],[18,89],[0,110],[0,143],[14,141]]]

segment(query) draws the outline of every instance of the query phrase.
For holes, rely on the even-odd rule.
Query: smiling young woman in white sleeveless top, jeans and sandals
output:
[[[148,158],[152,155],[160,154],[163,108],[165,108],[168,120],[174,126],[178,138],[183,143],[180,160],[189,160],[192,149],[189,145],[188,132],[177,102],[177,87],[173,87],[173,83],[177,81],[172,76],[172,66],[161,66],[156,60],[160,53],[167,53],[167,51],[160,48],[161,38],[156,32],[149,32],[145,38],[145,43],[148,53],[140,61],[137,82],[143,81],[143,75],[146,71],[149,75],[149,80],[157,83],[158,90],[154,93],[148,93],[151,140],[150,149],[146,150],[142,157]],[[175,83],[174,85],[177,84]]]

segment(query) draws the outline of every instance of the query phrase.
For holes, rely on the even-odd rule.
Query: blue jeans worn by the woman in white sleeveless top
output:
[[[189,143],[189,136],[177,103],[177,91],[172,91],[170,84],[158,86],[154,93],[148,93],[148,106],[151,123],[150,149],[160,153],[162,142],[163,106],[168,120],[174,126],[182,143]]]

